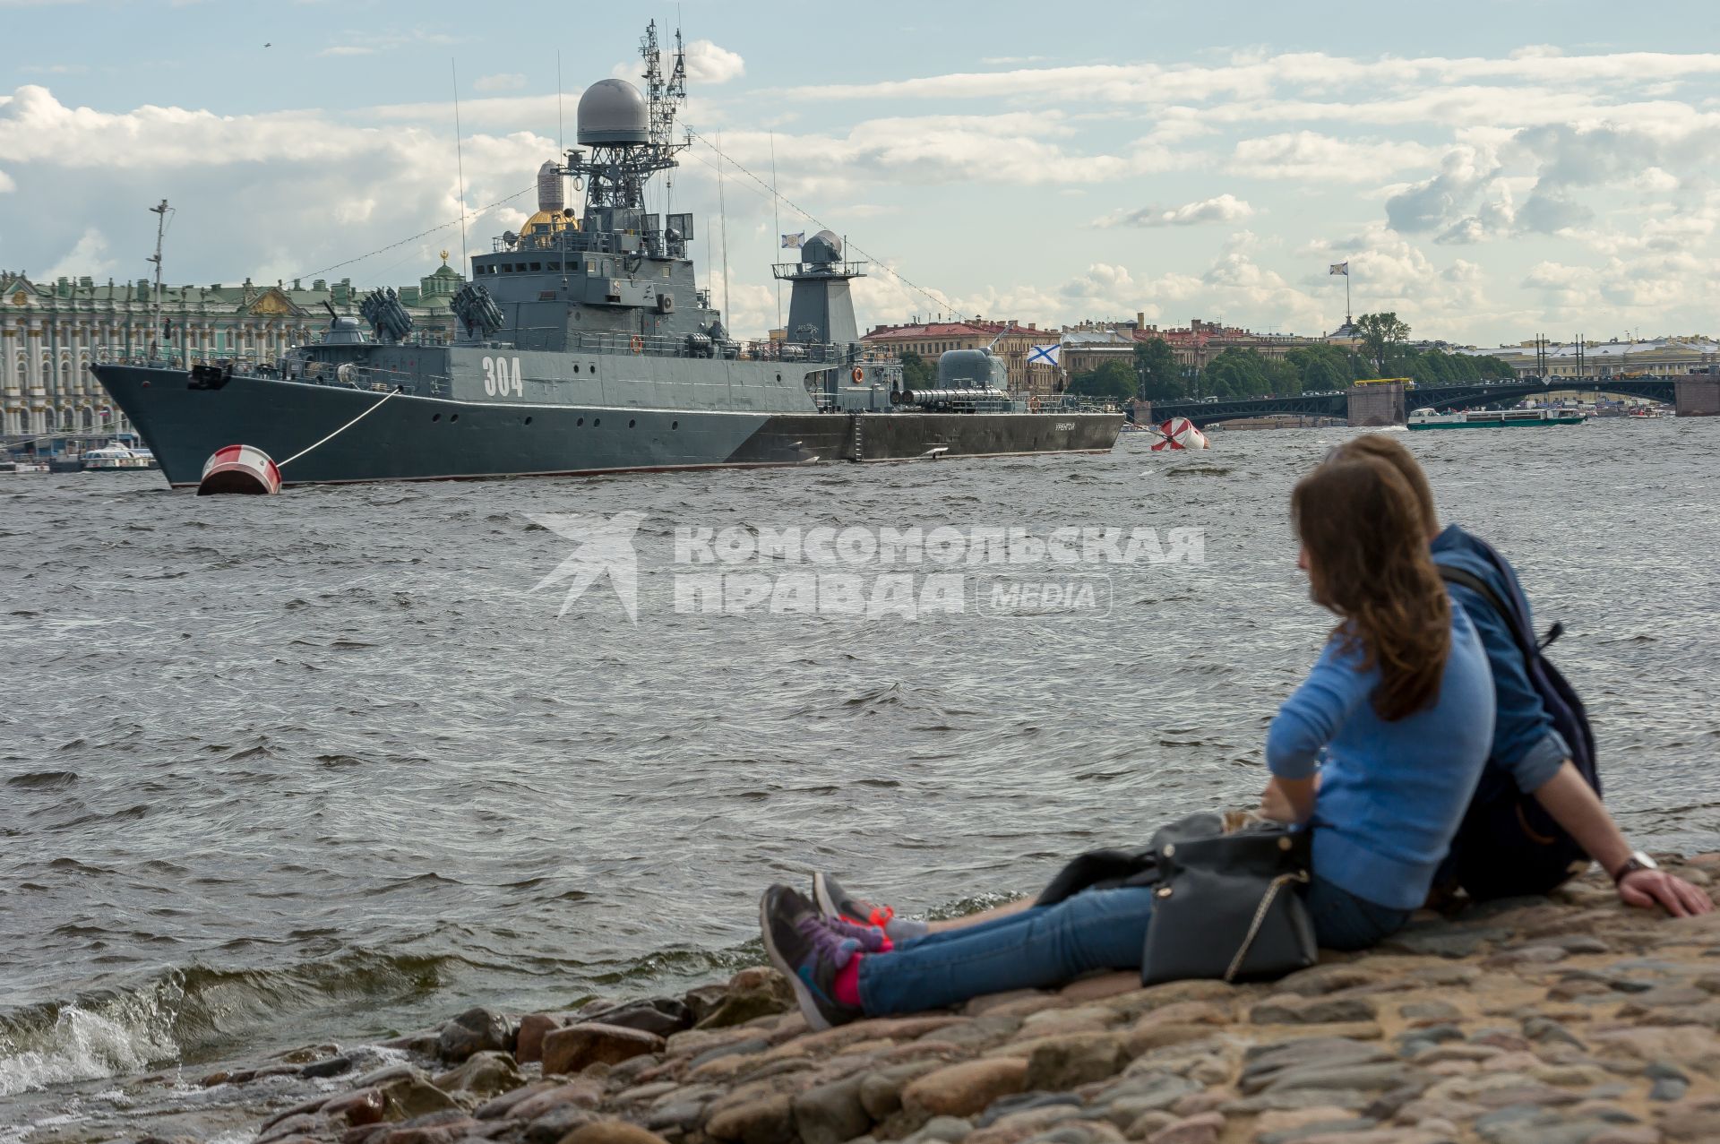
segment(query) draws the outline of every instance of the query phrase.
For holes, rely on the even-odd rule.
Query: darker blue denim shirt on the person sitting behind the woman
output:
[[[1524,614],[1527,614],[1529,600],[1517,583],[1517,575],[1508,564],[1503,569],[1495,564],[1476,540],[1457,525],[1448,525],[1433,538],[1433,559],[1438,564],[1462,568],[1479,576],[1502,600],[1517,597],[1522,600]],[[1464,606],[1469,621],[1476,624],[1476,635],[1481,637],[1488,666],[1493,669],[1493,702],[1498,705],[1498,714],[1493,721],[1490,762],[1510,774],[1517,790],[1534,791],[1558,774],[1565,759],[1570,757],[1570,747],[1553,729],[1553,717],[1546,714],[1541,693],[1529,683],[1522,652],[1500,611],[1472,588],[1460,583],[1447,587],[1452,599]],[[1488,783],[1491,784],[1491,781],[1490,778]]]

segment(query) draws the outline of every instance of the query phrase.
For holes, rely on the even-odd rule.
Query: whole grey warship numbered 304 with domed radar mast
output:
[[[449,341],[413,329],[392,291],[273,361],[91,366],[174,487],[222,447],[280,461],[280,482],[454,480],[815,461],[1104,452],[1121,413],[1037,409],[989,349],[944,353],[932,389],[869,353],[850,282],[863,263],[820,231],[789,284],[784,337],[733,339],[697,284],[691,213],[647,210],[647,184],[688,146],[681,38],[645,91],[602,79],[580,98],[576,148],[538,170],[537,213],[470,258]],[[583,210],[566,189],[583,191]],[[366,329],[368,327],[368,329]],[[284,458],[284,459],[282,459]]]

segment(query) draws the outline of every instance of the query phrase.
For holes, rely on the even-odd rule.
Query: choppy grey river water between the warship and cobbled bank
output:
[[[470,1003],[726,975],[759,960],[760,889],[819,867],[908,912],[963,910],[1250,800],[1266,723],[1328,626],[1288,490],[1348,435],[270,499],[0,478],[0,1139],[203,1099],[127,1087],[151,1070],[194,1082]],[[1720,423],[1409,444],[1445,518],[1514,557],[1543,626],[1563,621],[1555,659],[1631,836],[1720,846]],[[566,520],[614,532],[621,513],[642,514],[631,538],[585,547]],[[724,549],[686,530],[819,526],[857,530],[850,563],[717,564],[750,580],[728,614],[698,611],[712,566],[686,559]],[[879,530],[939,526],[970,556],[992,528],[1139,544],[1073,566],[934,564],[934,545],[853,563]],[[554,573],[580,552],[631,556],[569,600]],[[872,614],[793,611],[779,581],[805,569],[860,575]],[[927,595],[934,573],[960,594]],[[1068,595],[994,607],[999,573]],[[896,575],[906,597],[882,587]],[[786,612],[741,607],[759,576]]]

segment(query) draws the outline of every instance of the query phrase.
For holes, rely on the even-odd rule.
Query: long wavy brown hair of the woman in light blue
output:
[[[1335,640],[1379,667],[1373,707],[1402,719],[1440,697],[1452,604],[1428,552],[1428,521],[1404,475],[1373,456],[1340,456],[1290,494],[1314,602],[1342,623]]]

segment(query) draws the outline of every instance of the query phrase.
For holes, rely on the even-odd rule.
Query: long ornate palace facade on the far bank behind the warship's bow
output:
[[[444,261],[416,286],[399,287],[415,330],[454,334],[447,303],[464,279]],[[162,329],[148,279],[98,286],[93,279],[34,282],[0,270],[0,437],[129,432],[126,416],[86,368],[103,356],[170,353],[198,363],[222,358],[272,361],[313,341],[329,322],[323,303],[356,313],[365,291],[351,279],[316,279],[306,289],[256,286],[163,286]]]

